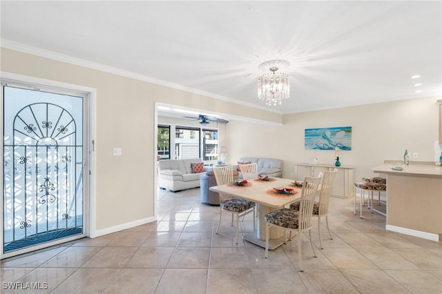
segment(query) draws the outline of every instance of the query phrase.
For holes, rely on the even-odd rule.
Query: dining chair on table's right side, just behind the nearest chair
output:
[[[325,170],[323,172],[323,181],[320,184],[320,191],[319,191],[319,202],[315,202],[313,205],[313,216],[318,217],[318,234],[319,234],[319,244],[320,248],[323,248],[323,240],[320,237],[320,218],[325,217],[325,223],[327,224],[327,230],[329,231],[330,239],[333,239],[332,233],[330,233],[329,228],[329,220],[328,220],[328,213],[329,213],[329,198],[330,194],[332,193],[332,186],[334,182],[334,178],[336,177],[336,174],[338,173],[338,170],[334,168],[334,170]],[[300,206],[300,200],[290,204],[290,208],[294,210],[299,210]]]

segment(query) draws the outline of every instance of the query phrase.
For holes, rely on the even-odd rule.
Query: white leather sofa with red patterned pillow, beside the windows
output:
[[[200,186],[200,175],[206,173],[192,173],[191,164],[202,162],[195,159],[162,159],[158,161],[158,186],[162,189],[176,192]]]

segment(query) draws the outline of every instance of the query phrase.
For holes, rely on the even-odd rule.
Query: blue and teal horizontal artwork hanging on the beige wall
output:
[[[352,127],[306,128],[304,140],[305,149],[352,150]]]

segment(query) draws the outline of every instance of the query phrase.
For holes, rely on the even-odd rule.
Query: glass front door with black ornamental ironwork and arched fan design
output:
[[[86,93],[2,88],[3,255],[85,237]]]

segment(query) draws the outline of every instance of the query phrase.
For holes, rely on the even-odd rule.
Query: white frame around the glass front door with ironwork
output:
[[[86,101],[86,122],[88,125],[88,131],[86,134],[86,142],[84,144],[87,144],[85,152],[88,153],[88,164],[86,165],[86,169],[84,170],[85,173],[88,175],[88,181],[86,184],[86,187],[84,190],[86,191],[86,211],[85,215],[87,216],[87,221],[84,226],[84,233],[86,233],[86,236],[88,237],[97,237],[97,230],[96,230],[96,184],[97,184],[97,177],[96,177],[96,150],[97,150],[97,144],[95,143],[97,141],[96,139],[96,133],[97,133],[97,89],[90,88],[87,86],[81,86],[81,85],[75,85],[75,84],[68,84],[60,81],[52,81],[49,79],[41,79],[37,77],[30,77],[26,75],[19,75],[12,72],[3,72],[0,71],[0,77],[2,82],[10,82],[11,84],[29,84],[29,86],[41,86],[41,87],[47,87],[47,88],[59,88],[61,90],[70,90],[70,91],[77,91],[77,92],[86,92],[88,94],[88,101]],[[3,103],[0,105],[0,128],[3,128]],[[0,140],[0,148],[3,150],[3,139]],[[3,164],[3,151],[0,153],[0,161]],[[3,191],[3,179],[0,181],[0,190]],[[1,200],[1,204],[3,204],[3,197]],[[0,208],[0,218],[2,221],[1,225],[1,234],[0,234],[0,244],[3,244],[3,205]],[[56,244],[62,244],[69,241],[68,238],[55,240],[53,243]],[[75,239],[75,238],[73,238]],[[39,244],[36,246],[33,246],[35,250],[38,250],[40,248],[45,248],[45,244]],[[3,253],[3,246],[1,246],[0,249],[0,259],[7,258],[17,255],[15,252],[10,253]]]

